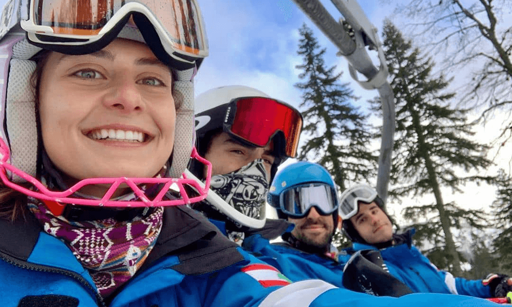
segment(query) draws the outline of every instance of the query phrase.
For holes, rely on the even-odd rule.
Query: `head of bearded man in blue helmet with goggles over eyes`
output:
[[[295,227],[283,234],[285,243],[312,254],[332,254],[331,241],[338,224],[336,187],[321,165],[297,162],[272,182],[268,203]]]

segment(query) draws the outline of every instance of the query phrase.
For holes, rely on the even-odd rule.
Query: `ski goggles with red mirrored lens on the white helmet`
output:
[[[285,155],[297,153],[302,129],[302,115],[279,100],[264,97],[243,97],[232,100],[226,110],[224,131],[250,144],[265,147],[281,131]]]

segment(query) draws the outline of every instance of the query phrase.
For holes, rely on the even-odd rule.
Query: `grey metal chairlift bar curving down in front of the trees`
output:
[[[338,23],[318,0],[293,1],[318,29],[334,43],[339,49],[338,54],[347,58],[352,78],[367,90],[376,89],[380,95],[383,120],[377,172],[377,192],[382,200],[386,202],[395,133],[395,98],[391,85],[387,81],[388,68],[376,28],[370,23],[355,0],[331,0],[345,17],[345,22],[351,26],[354,31],[354,38],[349,36],[343,25]],[[377,50],[380,60],[379,69],[375,67],[370,59],[366,46]],[[357,73],[364,75],[368,80],[358,80]]]

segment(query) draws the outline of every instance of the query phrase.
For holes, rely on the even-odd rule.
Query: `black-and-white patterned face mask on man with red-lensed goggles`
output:
[[[269,175],[263,159],[254,160],[228,174],[212,176],[210,189],[246,216],[265,217]]]

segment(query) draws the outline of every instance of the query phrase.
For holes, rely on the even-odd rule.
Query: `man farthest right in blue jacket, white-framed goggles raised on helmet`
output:
[[[370,186],[361,184],[347,189],[340,196],[343,231],[352,240],[354,251],[380,252],[389,272],[413,292],[492,298],[504,297],[512,291],[512,279],[506,275],[490,274],[484,280],[466,280],[438,270],[412,246],[413,230],[393,233],[391,219],[383,207],[377,191]],[[357,266],[347,266],[344,276],[347,288],[362,291],[354,282],[359,274]]]

